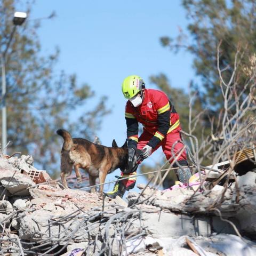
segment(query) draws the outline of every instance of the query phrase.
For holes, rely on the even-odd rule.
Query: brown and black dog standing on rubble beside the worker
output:
[[[78,182],[82,181],[79,168],[89,173],[90,186],[95,185],[96,178],[99,183],[104,183],[106,175],[116,169],[125,171],[127,168],[127,143],[118,148],[113,140],[112,147],[95,144],[82,138],[72,138],[66,130],[59,129],[57,134],[64,139],[61,149],[61,180],[63,186],[68,188],[66,177],[71,174],[73,166]],[[95,192],[95,187],[91,188]],[[103,193],[103,185],[100,186],[100,194]]]

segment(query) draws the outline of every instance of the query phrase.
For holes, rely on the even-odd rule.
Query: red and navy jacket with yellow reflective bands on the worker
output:
[[[158,90],[145,89],[142,104],[133,107],[128,100],[125,107],[128,143],[138,142],[138,122],[153,135],[148,145],[153,148],[174,129],[180,130],[179,114],[167,95]],[[137,143],[136,143],[137,144]]]

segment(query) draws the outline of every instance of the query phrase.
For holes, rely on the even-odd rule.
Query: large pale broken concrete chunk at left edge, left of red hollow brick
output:
[[[29,195],[28,188],[35,185],[30,177],[11,170],[0,172],[0,181],[4,187],[11,193],[20,196]]]

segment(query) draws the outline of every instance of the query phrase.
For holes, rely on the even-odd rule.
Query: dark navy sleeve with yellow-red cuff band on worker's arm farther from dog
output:
[[[148,145],[153,149],[157,146],[157,144],[162,141],[167,134],[170,128],[170,115],[171,111],[165,111],[162,114],[158,114],[157,122],[158,122],[158,130],[155,135],[150,139]]]

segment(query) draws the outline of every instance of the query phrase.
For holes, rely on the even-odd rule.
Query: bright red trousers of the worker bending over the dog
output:
[[[172,150],[173,153],[175,154],[175,156],[177,156],[179,154],[179,150],[181,150],[181,148],[184,146],[181,141],[180,138],[180,129],[177,130],[173,130],[172,132],[166,134],[165,138],[154,148],[153,152],[156,151],[160,146],[162,146],[163,152],[165,154],[165,157],[167,160],[169,160],[172,157]],[[152,134],[150,134],[149,132],[147,132],[146,130],[143,130],[143,133],[140,135],[139,138],[139,142],[137,145],[138,149],[142,149],[143,147],[145,147],[148,143],[148,141],[153,137]],[[179,141],[178,143],[175,143]],[[172,145],[175,143],[174,148],[172,149]],[[152,152],[152,153],[153,153]],[[170,162],[172,162],[174,158],[171,159]],[[183,152],[181,153],[181,155],[178,157],[177,159],[179,160],[187,160],[187,156],[186,156],[186,150],[184,149]]]

